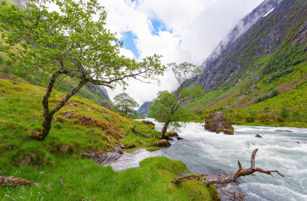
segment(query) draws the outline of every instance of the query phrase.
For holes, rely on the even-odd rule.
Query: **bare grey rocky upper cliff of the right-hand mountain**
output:
[[[201,65],[204,72],[191,82],[207,91],[236,85],[248,75],[240,73],[249,62],[273,53],[297,24],[302,26],[289,38],[291,45],[305,44],[306,16],[305,0],[264,0],[217,45]]]

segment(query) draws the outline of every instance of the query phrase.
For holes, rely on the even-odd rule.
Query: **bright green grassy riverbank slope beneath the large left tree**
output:
[[[147,158],[140,168],[114,172],[82,158],[84,151],[104,152],[118,142],[136,147],[152,146],[155,138],[144,138],[130,131],[138,124],[95,104],[92,100],[73,96],[56,115],[52,129],[43,141],[31,139],[41,128],[41,99],[45,89],[24,82],[14,83],[0,79],[0,171],[1,175],[24,177],[38,182],[40,187],[1,187],[17,200],[211,200],[217,198],[213,186],[206,187],[197,181],[180,185],[170,179],[187,169],[180,161],[165,157]],[[64,93],[54,91],[50,103],[54,106]],[[73,118],[63,117],[67,111]],[[103,126],[91,127],[76,124],[82,116],[91,116]],[[159,132],[145,124],[136,129],[151,136]],[[120,137],[124,134],[126,137]],[[66,148],[65,148],[66,147]],[[67,148],[68,147],[68,148]],[[63,176],[64,186],[59,181]],[[4,197],[3,200],[10,200]]]

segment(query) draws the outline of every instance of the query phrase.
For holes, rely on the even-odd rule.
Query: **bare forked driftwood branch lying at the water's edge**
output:
[[[278,170],[264,170],[264,169],[261,169],[259,167],[255,167],[255,155],[256,155],[257,151],[258,151],[258,148],[256,148],[252,153],[251,160],[250,160],[251,166],[249,168],[243,169],[240,161],[238,160],[239,170],[236,171],[232,176],[209,178],[209,179],[205,179],[202,176],[200,176],[201,178],[204,179],[203,183],[209,185],[209,184],[222,184],[222,183],[238,182],[237,178],[239,178],[240,176],[246,176],[246,175],[250,175],[250,174],[255,175],[253,173],[256,172],[256,171],[268,174],[268,175],[273,176],[275,178],[276,178],[276,176],[272,175],[271,172],[276,172],[280,176],[284,177],[284,175],[281,174]],[[200,177],[198,177],[198,178],[200,178]],[[171,182],[180,183],[182,181],[187,181],[187,180],[191,180],[191,179],[194,179],[194,177],[184,176],[184,177],[181,177],[181,178],[172,179]]]

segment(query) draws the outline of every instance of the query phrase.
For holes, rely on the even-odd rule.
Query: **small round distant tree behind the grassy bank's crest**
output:
[[[133,97],[130,97],[128,93],[122,92],[114,96],[115,108],[119,111],[122,111],[125,114],[133,113],[134,107],[138,107],[139,104],[135,101]]]

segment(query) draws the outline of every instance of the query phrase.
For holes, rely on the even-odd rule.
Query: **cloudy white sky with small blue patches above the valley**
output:
[[[107,27],[124,42],[121,53],[141,59],[154,53],[162,62],[200,64],[214,47],[262,0],[99,0],[107,11]],[[126,87],[139,104],[159,90],[177,86],[170,72],[161,85],[130,79]],[[111,98],[122,88],[108,89]]]

